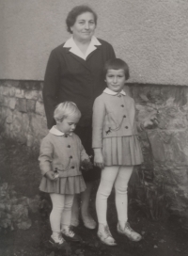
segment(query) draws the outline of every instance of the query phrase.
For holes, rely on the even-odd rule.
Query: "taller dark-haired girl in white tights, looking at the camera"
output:
[[[156,118],[135,121],[133,98],[126,95],[123,87],[129,78],[127,64],[119,59],[111,59],[104,67],[107,88],[95,100],[93,106],[94,164],[102,168],[101,183],[97,192],[96,210],[99,221],[98,236],[109,246],[117,243],[109,231],[106,221],[107,199],[113,184],[116,191],[118,211],[118,232],[139,241],[141,235],[134,232],[128,222],[127,187],[133,166],[143,162],[137,129],[157,124]]]

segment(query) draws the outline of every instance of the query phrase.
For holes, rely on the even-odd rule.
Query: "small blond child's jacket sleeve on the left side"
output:
[[[52,170],[52,159],[53,145],[48,139],[44,138],[41,142],[39,151],[39,168],[42,175],[45,175],[47,171]]]

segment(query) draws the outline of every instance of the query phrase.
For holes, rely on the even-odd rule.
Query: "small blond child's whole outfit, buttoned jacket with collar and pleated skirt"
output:
[[[80,171],[81,161],[89,159],[78,136],[65,136],[55,126],[42,139],[39,167],[42,180],[39,189],[47,193],[75,194],[86,189]],[[47,171],[57,169],[59,178],[51,181],[45,177]]]

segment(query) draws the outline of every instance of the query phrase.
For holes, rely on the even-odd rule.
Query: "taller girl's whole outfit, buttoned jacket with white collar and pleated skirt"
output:
[[[138,141],[133,98],[122,90],[116,93],[106,88],[93,106],[93,148],[102,148],[104,163],[139,165],[143,156]]]

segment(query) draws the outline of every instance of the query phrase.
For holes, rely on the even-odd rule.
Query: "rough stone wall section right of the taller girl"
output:
[[[164,180],[171,210],[188,216],[188,87],[132,85],[137,118],[156,113],[159,126],[141,134],[145,168]]]

